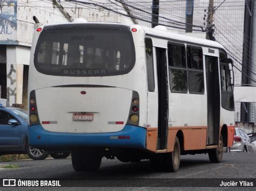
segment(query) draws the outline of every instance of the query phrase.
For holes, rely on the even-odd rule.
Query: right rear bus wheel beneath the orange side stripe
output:
[[[174,149],[171,153],[166,153],[164,158],[164,169],[168,172],[178,172],[180,165],[180,144],[179,138],[175,138]]]

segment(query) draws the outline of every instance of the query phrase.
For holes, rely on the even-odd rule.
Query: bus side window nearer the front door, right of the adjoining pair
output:
[[[196,47],[187,47],[188,91],[204,94],[203,51]]]

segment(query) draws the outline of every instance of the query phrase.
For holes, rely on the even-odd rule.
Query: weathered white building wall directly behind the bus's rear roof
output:
[[[109,1],[99,0],[98,3],[109,3]],[[117,22],[131,24],[132,21],[128,17],[123,17],[117,13],[107,11],[97,6],[81,5],[60,1],[65,11],[75,18],[85,18],[89,22]],[[18,0],[17,9],[17,40],[21,45],[31,46],[33,35],[33,16],[36,16],[43,24],[68,23],[69,20],[60,11],[60,9],[52,3],[52,1],[29,1]],[[109,5],[106,5],[109,6]],[[115,9],[115,5],[109,6]],[[127,14],[124,9],[116,6],[116,10]]]

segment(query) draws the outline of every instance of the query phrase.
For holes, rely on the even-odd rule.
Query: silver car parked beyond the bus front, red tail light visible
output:
[[[233,146],[231,152],[254,152],[251,139],[241,128],[235,128]]]

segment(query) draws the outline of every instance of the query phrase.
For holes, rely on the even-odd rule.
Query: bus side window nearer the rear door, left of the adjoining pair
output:
[[[171,92],[187,93],[187,68],[184,45],[168,44]]]

